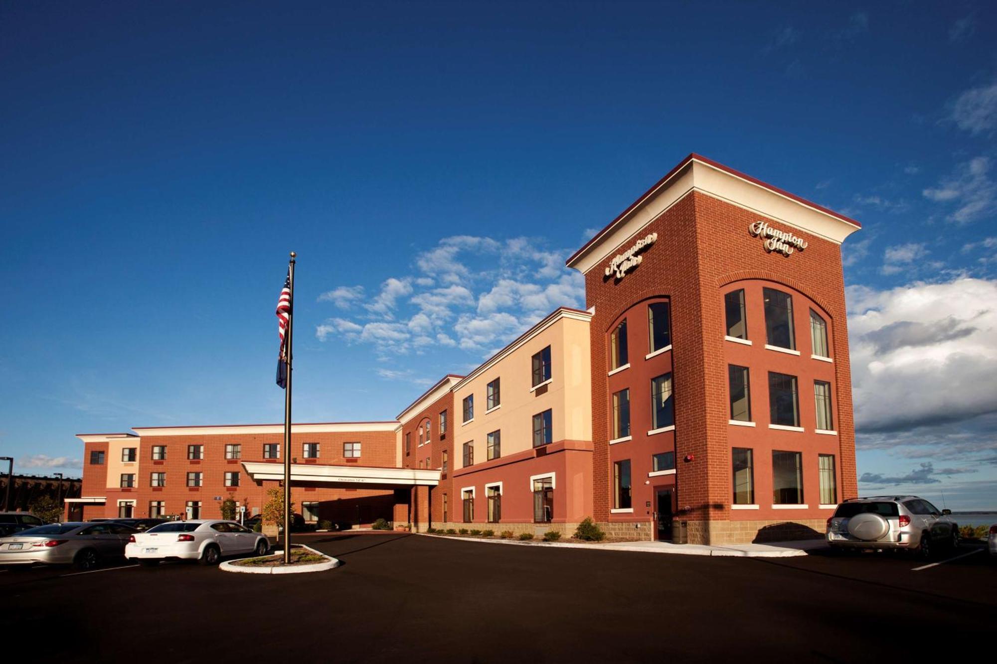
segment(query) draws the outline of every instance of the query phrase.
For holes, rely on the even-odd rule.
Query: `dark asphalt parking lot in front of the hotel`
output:
[[[184,563],[3,571],[0,629],[74,662],[852,662],[984,646],[997,619],[997,563],[968,545],[915,571],[924,563],[903,555],[724,558],[374,532],[297,540],[343,565],[279,576]]]

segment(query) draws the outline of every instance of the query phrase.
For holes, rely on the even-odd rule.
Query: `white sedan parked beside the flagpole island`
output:
[[[169,521],[136,532],[125,546],[125,557],[144,565],[156,565],[161,560],[198,560],[215,565],[223,555],[266,555],[269,549],[266,536],[235,521],[197,518]]]

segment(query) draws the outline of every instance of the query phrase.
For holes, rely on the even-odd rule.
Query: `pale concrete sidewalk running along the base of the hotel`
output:
[[[678,555],[722,555],[744,558],[785,558],[794,555],[807,555],[807,551],[828,547],[824,539],[800,539],[796,541],[774,541],[764,544],[673,544],[667,541],[616,541],[609,543],[587,541],[519,541],[496,537],[458,537],[421,532],[426,537],[480,541],[489,544],[515,544],[519,546],[555,546],[560,548],[594,548],[602,551],[639,551],[642,553],[674,553]]]

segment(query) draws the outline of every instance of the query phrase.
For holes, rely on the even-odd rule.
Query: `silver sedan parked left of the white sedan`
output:
[[[72,564],[97,567],[102,559],[122,557],[129,537],[138,532],[124,523],[50,523],[0,537],[0,565]]]

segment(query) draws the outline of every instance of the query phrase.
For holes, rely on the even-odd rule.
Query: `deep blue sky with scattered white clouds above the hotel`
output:
[[[390,419],[540,315],[690,152],[863,223],[863,492],[997,507],[990,3],[0,5],[0,454]]]

